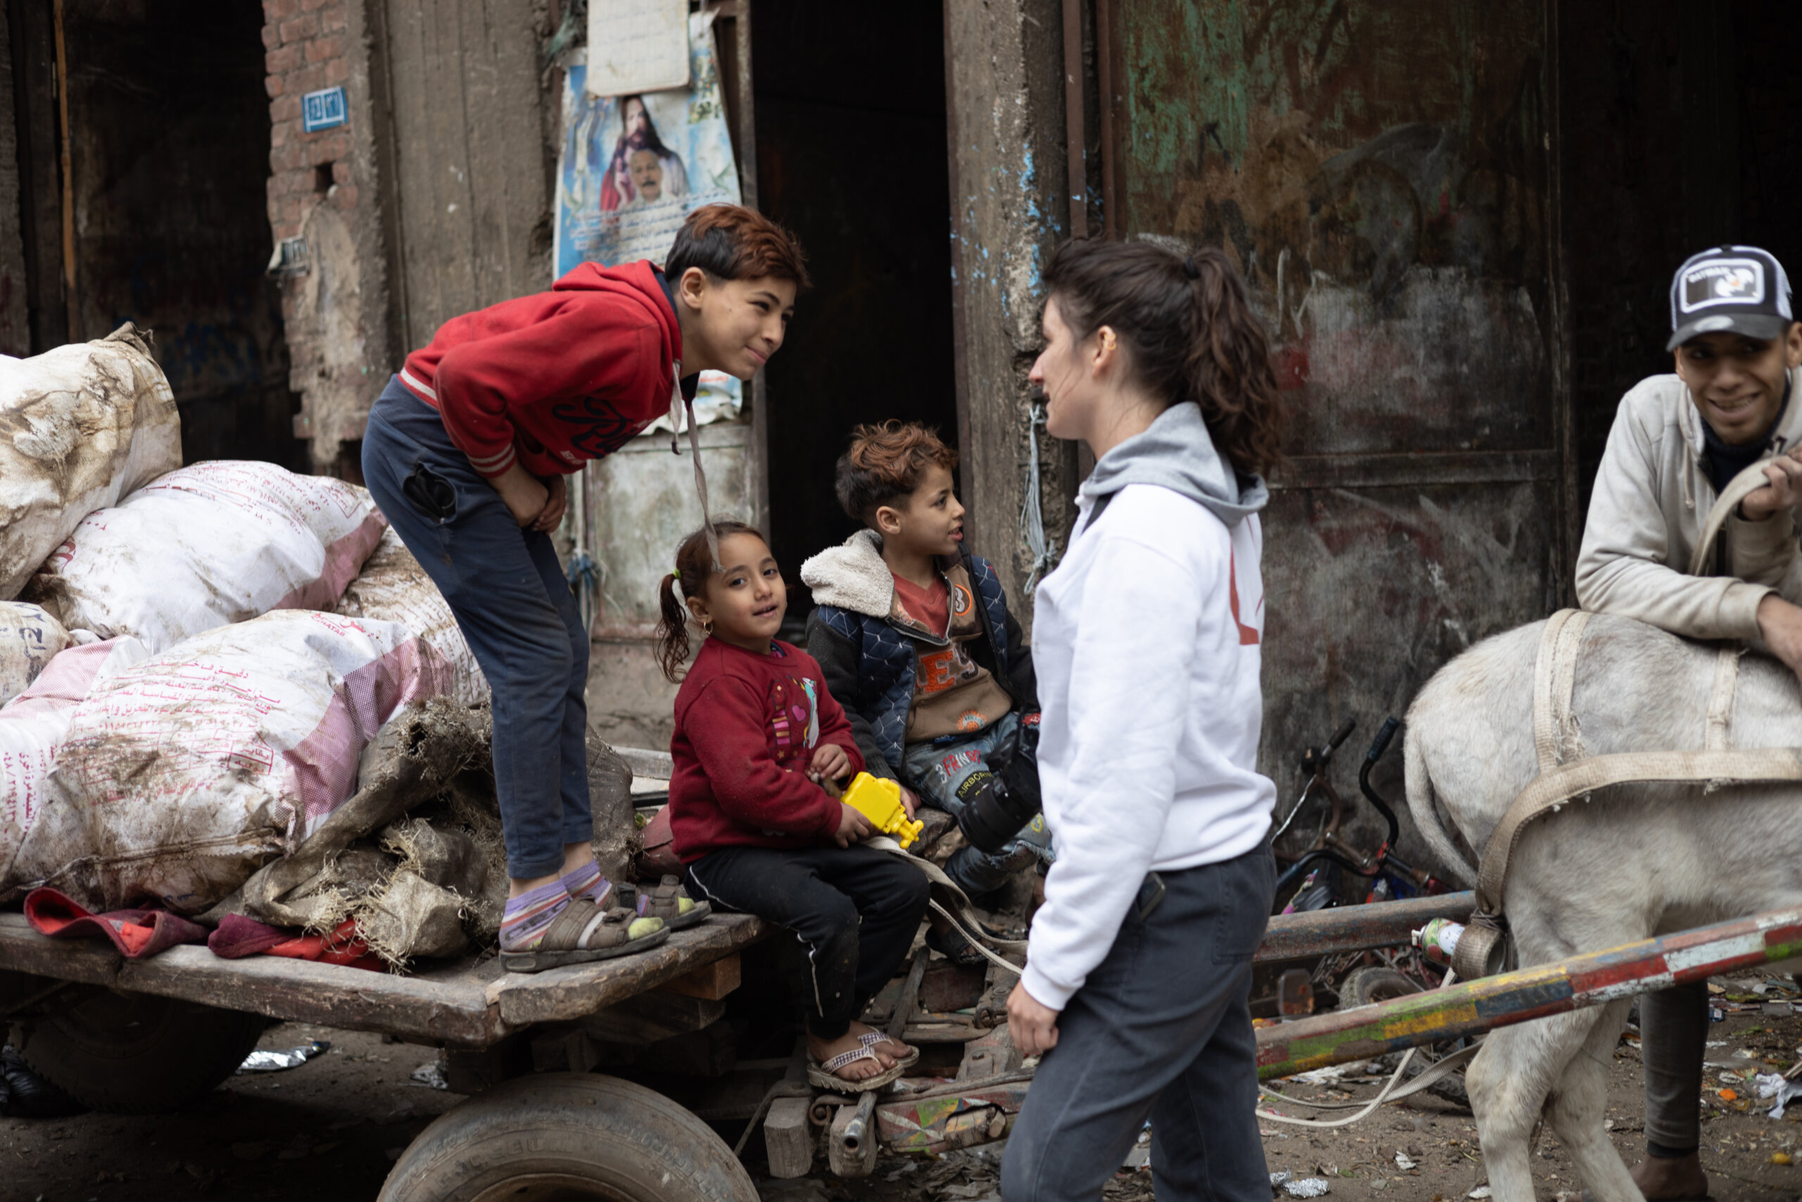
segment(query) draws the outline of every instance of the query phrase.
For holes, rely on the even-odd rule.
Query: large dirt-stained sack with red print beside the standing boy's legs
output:
[[[81,905],[196,914],[292,852],[355,791],[382,726],[454,672],[405,627],[278,611],[96,687],[5,881]]]

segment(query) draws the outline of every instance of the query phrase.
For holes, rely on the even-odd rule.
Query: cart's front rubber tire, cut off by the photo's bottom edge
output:
[[[377,1202],[757,1202],[732,1148],[631,1081],[541,1072],[470,1097],[420,1132]]]

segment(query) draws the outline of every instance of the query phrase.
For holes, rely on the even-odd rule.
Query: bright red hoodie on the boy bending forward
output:
[[[533,476],[568,476],[670,411],[679,359],[681,326],[651,263],[582,263],[550,292],[438,326],[400,382],[483,476],[515,458]]]

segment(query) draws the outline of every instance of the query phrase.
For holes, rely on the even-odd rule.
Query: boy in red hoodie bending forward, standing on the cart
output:
[[[618,910],[587,798],[587,631],[550,532],[564,476],[694,396],[706,369],[751,378],[782,346],[807,270],[751,209],[688,214],[663,270],[584,263],[550,292],[454,317],[369,411],[362,470],[456,613],[494,692],[494,786],[512,878],[501,959],[515,971],[663,941]]]

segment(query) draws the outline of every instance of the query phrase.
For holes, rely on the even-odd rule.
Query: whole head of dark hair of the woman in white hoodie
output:
[[[1146,389],[1169,404],[1193,400],[1240,472],[1281,463],[1270,344],[1225,252],[1204,247],[1182,258],[1151,241],[1079,238],[1052,252],[1045,287],[1079,341],[1112,328]]]

